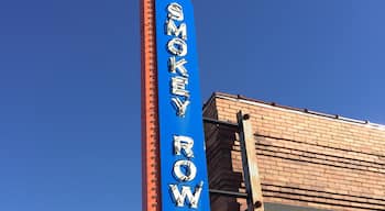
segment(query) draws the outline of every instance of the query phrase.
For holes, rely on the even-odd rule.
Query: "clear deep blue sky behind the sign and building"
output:
[[[385,123],[385,1],[194,0],[202,96]],[[0,1],[0,210],[141,210],[139,0]]]

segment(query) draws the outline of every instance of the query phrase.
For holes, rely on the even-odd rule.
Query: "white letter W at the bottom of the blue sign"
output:
[[[202,191],[204,181],[201,181],[196,188],[195,193],[191,193],[191,189],[188,186],[182,186],[182,193],[177,185],[169,185],[169,189],[174,201],[177,207],[184,207],[186,197],[190,202],[190,208],[198,208],[198,202],[200,198],[200,192]]]

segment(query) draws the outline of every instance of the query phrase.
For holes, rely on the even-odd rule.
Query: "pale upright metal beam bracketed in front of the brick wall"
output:
[[[261,179],[256,163],[255,142],[250,115],[239,111],[237,119],[240,127],[242,167],[248,192],[248,211],[264,211]]]

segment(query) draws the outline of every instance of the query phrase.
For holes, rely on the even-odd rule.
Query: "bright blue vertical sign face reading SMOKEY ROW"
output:
[[[209,211],[209,184],[190,0],[156,0],[163,211]]]

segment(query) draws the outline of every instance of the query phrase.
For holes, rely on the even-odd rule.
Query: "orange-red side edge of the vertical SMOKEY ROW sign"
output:
[[[141,0],[142,210],[161,210],[155,2]]]

